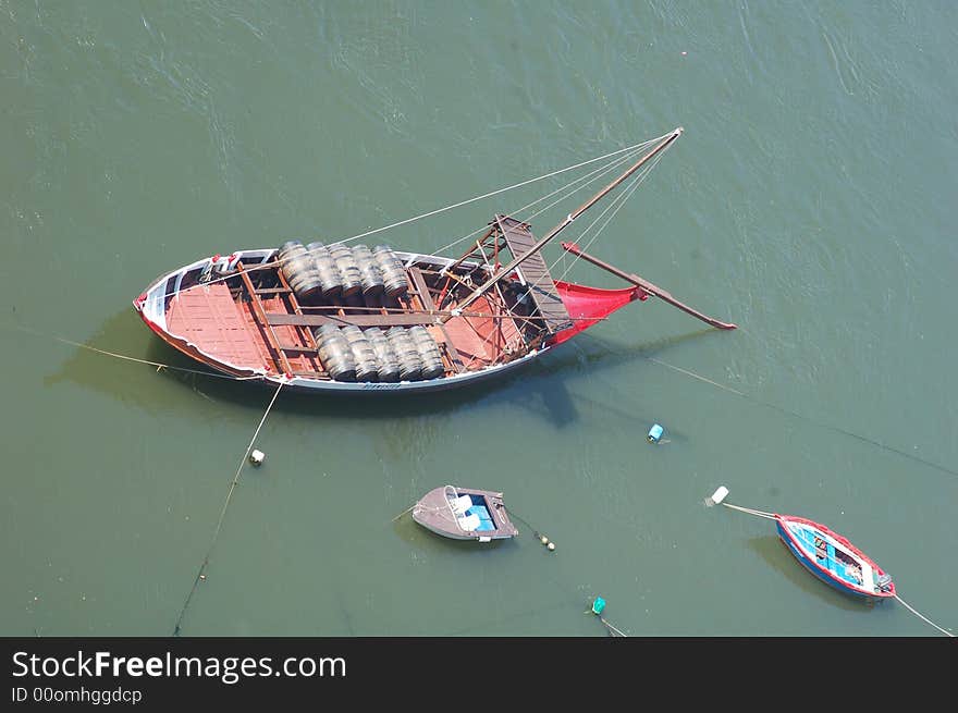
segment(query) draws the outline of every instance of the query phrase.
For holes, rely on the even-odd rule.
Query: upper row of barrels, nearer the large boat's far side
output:
[[[374,304],[383,295],[402,297],[407,288],[403,262],[388,245],[370,250],[366,245],[287,241],[277,259],[296,298],[306,304],[335,304],[359,295]]]

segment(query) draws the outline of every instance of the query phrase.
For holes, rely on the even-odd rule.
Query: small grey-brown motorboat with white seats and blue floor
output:
[[[508,540],[519,531],[502,502],[502,493],[455,485],[434,488],[413,506],[413,519],[453,540]]]

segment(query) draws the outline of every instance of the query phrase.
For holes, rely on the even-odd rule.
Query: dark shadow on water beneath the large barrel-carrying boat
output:
[[[460,408],[518,406],[542,416],[556,428],[579,420],[577,403],[598,403],[574,394],[568,386],[587,381],[603,370],[621,365],[639,364],[679,343],[701,339],[714,330],[696,330],[678,336],[643,344],[623,345],[592,334],[584,334],[575,344],[566,344],[499,379],[480,381],[453,390],[428,393],[369,392],[322,395],[286,391],[273,406],[274,410],[308,418],[353,418],[364,420],[394,419],[425,415],[444,415]],[[50,335],[57,337],[58,335]],[[67,339],[70,335],[64,335]],[[149,332],[144,332],[133,310],[124,309],[110,317],[84,342],[82,348],[65,345],[69,356],[60,369],[44,379],[46,385],[69,381],[97,392],[133,403],[149,413],[182,408],[183,395],[194,395],[211,404],[234,404],[260,409],[273,391],[272,384],[244,383],[202,373],[202,367]],[[97,349],[97,351],[95,351]],[[170,368],[126,361],[109,352]],[[137,376],[138,374],[138,376]],[[153,383],[150,383],[153,382]],[[263,401],[263,399],[267,401]],[[641,422],[642,414],[625,413],[614,404],[602,403],[606,409]],[[651,421],[649,421],[651,422]],[[672,438],[681,438],[672,432]]]

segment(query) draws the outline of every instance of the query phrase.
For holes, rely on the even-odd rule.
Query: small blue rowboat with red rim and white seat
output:
[[[788,551],[815,577],[840,592],[867,600],[895,597],[895,582],[847,538],[805,517],[774,514]]]

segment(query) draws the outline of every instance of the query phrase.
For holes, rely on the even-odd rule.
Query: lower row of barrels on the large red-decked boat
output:
[[[319,359],[335,381],[421,381],[445,373],[442,353],[425,327],[322,324],[314,331]]]

